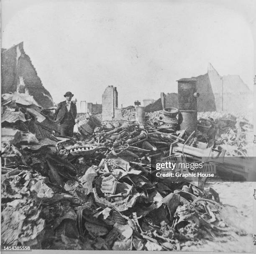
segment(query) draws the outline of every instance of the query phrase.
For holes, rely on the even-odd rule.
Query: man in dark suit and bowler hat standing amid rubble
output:
[[[56,122],[60,124],[61,136],[73,136],[75,119],[77,117],[77,106],[71,102],[73,96],[72,92],[64,94],[66,100],[60,102],[56,110]]]

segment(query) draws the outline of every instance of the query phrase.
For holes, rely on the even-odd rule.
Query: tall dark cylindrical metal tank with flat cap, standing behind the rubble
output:
[[[197,130],[197,79],[179,79],[178,108],[180,129],[191,134]]]

